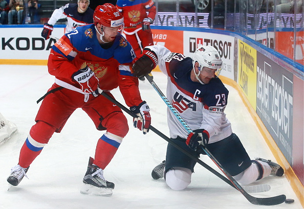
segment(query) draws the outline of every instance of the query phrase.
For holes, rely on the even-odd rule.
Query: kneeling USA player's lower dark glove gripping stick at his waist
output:
[[[205,129],[197,129],[188,134],[186,144],[192,150],[197,151],[200,146],[205,147],[209,142],[209,133]]]

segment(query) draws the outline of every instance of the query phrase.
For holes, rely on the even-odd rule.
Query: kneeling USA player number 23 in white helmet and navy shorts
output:
[[[157,64],[168,77],[167,99],[193,130],[188,134],[168,108],[170,137],[180,147],[193,156],[199,156],[204,153],[202,146],[205,146],[241,184],[284,174],[283,168],[271,160],[251,160],[240,139],[232,132],[225,114],[228,90],[216,76],[222,67],[222,60],[215,48],[202,45],[194,52],[192,60],[161,45],[148,46],[133,64],[134,75],[144,76]],[[152,177],[165,177],[171,189],[183,190],[191,182],[195,165],[196,161],[168,144],[166,160],[153,169]]]

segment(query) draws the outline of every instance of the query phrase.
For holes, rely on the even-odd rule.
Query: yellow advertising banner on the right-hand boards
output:
[[[255,110],[256,106],[256,50],[238,41],[238,84]]]

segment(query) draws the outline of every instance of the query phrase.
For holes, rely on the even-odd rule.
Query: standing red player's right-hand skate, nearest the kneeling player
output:
[[[93,158],[90,157],[80,193],[94,196],[111,196],[115,187],[114,183],[106,181],[103,177],[103,170],[92,164]]]

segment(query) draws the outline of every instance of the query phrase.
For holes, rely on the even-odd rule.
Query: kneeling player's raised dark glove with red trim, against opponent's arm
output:
[[[133,61],[133,75],[140,78],[149,73],[158,65],[158,58],[155,52],[145,48],[142,54]]]

